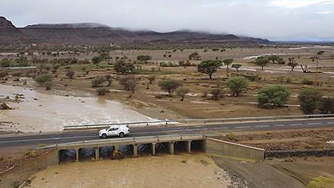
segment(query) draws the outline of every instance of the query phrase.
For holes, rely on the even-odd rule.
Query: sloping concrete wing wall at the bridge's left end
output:
[[[29,178],[29,176],[35,174],[39,170],[57,164],[59,164],[58,151],[50,150],[47,153],[38,156],[34,160],[28,161],[1,173],[0,187],[13,187],[14,184],[21,184]]]

